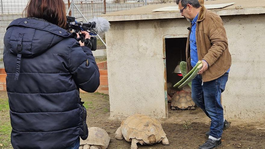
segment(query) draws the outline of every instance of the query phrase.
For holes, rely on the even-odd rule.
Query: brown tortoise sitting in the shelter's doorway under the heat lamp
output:
[[[171,99],[171,110],[195,110],[195,103],[192,101],[191,93],[184,90],[176,92]]]

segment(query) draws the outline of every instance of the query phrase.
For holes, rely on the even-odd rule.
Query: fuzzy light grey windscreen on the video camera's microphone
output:
[[[104,19],[103,17],[94,17],[93,19],[89,20],[89,22],[95,22],[95,30],[98,33],[104,33],[110,29],[110,23],[108,20]]]

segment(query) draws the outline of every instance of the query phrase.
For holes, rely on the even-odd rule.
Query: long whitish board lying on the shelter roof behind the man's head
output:
[[[234,4],[235,3],[226,3],[226,4],[215,4],[215,5],[204,5],[204,6],[207,9],[221,9]],[[167,6],[167,7],[154,9],[152,11],[179,11],[179,6]]]

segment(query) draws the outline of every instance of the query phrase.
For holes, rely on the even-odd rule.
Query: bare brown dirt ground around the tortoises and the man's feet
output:
[[[7,100],[6,92],[0,92],[0,96]],[[110,116],[108,95],[81,93],[80,96],[82,101],[85,101],[87,108],[88,126],[100,127],[108,132],[111,138],[108,149],[129,149],[131,145],[129,142],[114,138],[121,120],[108,119]],[[3,111],[0,112],[1,120],[10,121],[7,119],[8,112],[5,112],[6,114],[3,114]],[[138,145],[138,149],[195,149],[207,140],[204,134],[210,127],[210,120],[199,108],[196,110],[169,110],[169,118],[159,121],[170,144]],[[218,148],[265,149],[265,120],[259,122],[228,121],[231,122],[231,127],[224,131],[222,145]]]

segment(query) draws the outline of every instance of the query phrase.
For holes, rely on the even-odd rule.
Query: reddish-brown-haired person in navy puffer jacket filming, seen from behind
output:
[[[78,149],[80,137],[88,137],[79,88],[98,88],[95,58],[76,33],[67,32],[63,0],[30,0],[25,11],[27,18],[12,21],[4,37],[11,144]]]

